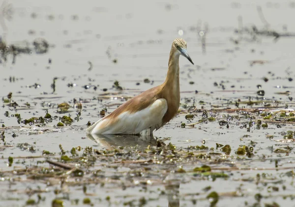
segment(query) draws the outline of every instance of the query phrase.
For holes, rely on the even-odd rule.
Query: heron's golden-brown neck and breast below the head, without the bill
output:
[[[167,113],[163,117],[163,123],[167,123],[177,114],[180,102],[179,53],[174,45],[171,47],[167,77],[162,84],[161,95],[168,104]]]

